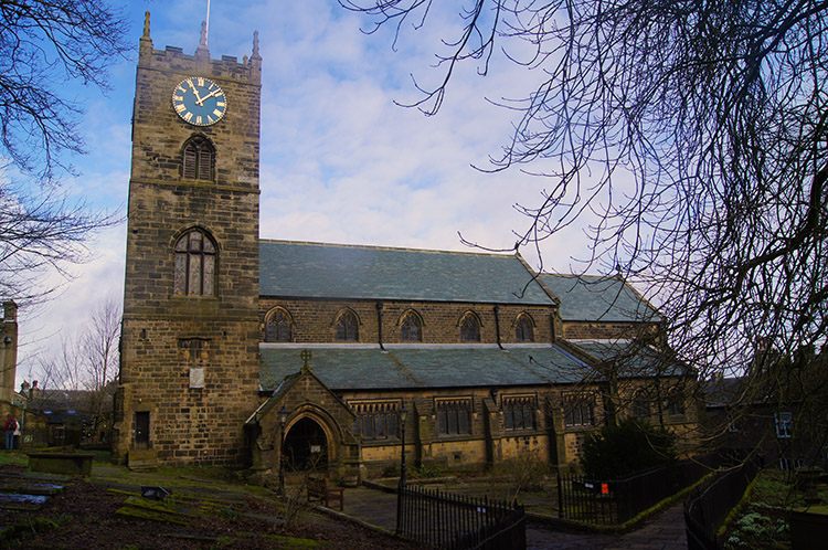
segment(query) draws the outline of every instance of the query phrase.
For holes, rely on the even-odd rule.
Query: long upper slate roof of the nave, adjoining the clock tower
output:
[[[516,255],[286,241],[259,241],[259,294],[297,298],[553,304]]]

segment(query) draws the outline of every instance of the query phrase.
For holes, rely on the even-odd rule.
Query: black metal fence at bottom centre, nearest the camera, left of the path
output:
[[[523,506],[405,486],[397,493],[396,532],[447,550],[523,550]]]

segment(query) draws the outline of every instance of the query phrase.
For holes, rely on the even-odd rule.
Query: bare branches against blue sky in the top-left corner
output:
[[[126,21],[95,0],[0,2],[0,139],[20,171],[50,180],[63,151],[82,152],[81,106],[70,81],[106,87],[106,68],[128,46]]]

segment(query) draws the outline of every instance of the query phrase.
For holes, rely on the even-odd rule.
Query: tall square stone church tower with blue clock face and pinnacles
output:
[[[120,462],[226,464],[258,404],[262,57],[155,50],[136,75],[120,383]]]

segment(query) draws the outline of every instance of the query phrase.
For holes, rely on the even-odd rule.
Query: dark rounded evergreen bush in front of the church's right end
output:
[[[587,435],[581,466],[587,477],[618,479],[676,462],[675,443],[668,430],[629,419]]]

